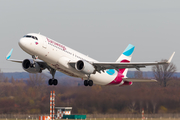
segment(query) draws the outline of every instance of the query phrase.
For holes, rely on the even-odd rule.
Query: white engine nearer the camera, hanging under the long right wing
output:
[[[83,72],[85,74],[93,74],[95,72],[94,66],[84,60],[77,61],[75,67],[76,70]]]

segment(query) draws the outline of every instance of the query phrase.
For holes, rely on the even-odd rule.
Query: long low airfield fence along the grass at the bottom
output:
[[[38,120],[39,116],[49,114],[0,114],[0,119]],[[142,118],[142,114],[87,114],[87,118]],[[144,114],[145,118],[180,118],[179,114]]]

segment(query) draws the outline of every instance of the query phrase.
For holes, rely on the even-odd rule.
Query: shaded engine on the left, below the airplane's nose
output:
[[[29,73],[41,73],[42,72],[39,64],[35,62],[33,65],[33,60],[31,60],[31,59],[25,59],[22,62],[22,67],[25,71],[27,71]]]

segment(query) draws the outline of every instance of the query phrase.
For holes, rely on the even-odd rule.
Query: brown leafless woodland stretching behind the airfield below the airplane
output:
[[[157,66],[160,67],[160,66]],[[169,67],[164,67],[166,72]],[[156,77],[156,69],[154,75]],[[175,72],[175,68],[173,71]],[[159,73],[161,73],[159,71]],[[29,74],[25,82],[5,78],[0,73],[0,114],[48,114],[50,91],[56,92],[56,107],[72,106],[74,114],[114,114],[114,113],[179,113],[180,78],[167,77],[161,73],[157,83],[134,83],[132,86],[85,87],[72,78],[65,80],[69,85],[48,86],[46,75]],[[169,74],[168,74],[169,75]],[[173,74],[172,74],[173,75]],[[141,71],[135,72],[136,78],[144,78]],[[158,76],[158,75],[157,75]],[[166,80],[164,85],[163,79]],[[83,82],[83,81],[82,81]],[[75,84],[72,85],[71,83]]]

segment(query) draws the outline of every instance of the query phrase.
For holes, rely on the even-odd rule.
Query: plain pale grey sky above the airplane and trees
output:
[[[31,58],[18,45],[27,33],[40,33],[101,62],[114,62],[128,44],[132,62],[169,59],[180,71],[179,0],[0,0],[0,69],[21,72],[5,60]],[[149,71],[151,67],[142,68]]]

